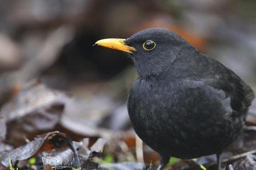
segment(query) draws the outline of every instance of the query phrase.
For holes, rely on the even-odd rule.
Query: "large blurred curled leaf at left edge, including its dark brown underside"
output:
[[[40,81],[26,84],[12,100],[3,105],[0,115],[7,122],[8,143],[24,144],[24,137],[54,130],[68,96],[52,90]]]

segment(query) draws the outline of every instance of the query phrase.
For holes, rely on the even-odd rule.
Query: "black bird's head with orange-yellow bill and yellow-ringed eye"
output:
[[[95,44],[129,54],[143,79],[168,70],[180,46],[189,45],[175,32],[163,28],[144,29],[127,39],[103,39]]]

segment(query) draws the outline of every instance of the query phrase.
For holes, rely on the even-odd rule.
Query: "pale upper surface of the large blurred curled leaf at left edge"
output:
[[[0,115],[7,121],[16,120],[49,105],[64,103],[66,98],[62,92],[51,90],[35,80],[24,85],[11,101],[3,105]]]

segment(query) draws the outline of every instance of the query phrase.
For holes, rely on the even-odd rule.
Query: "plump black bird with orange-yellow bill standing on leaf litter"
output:
[[[97,45],[127,52],[138,70],[127,108],[138,136],[160,154],[220,155],[240,134],[254,92],[232,70],[201,54],[177,33],[144,29],[128,39]]]

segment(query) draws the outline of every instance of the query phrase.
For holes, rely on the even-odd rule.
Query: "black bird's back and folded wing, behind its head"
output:
[[[254,99],[254,92],[250,86],[222,63],[201,54],[192,46],[185,46],[182,50],[180,61],[170,69],[168,79],[175,76],[174,79],[204,82],[207,86],[224,91],[226,97],[230,97],[233,116],[241,116],[247,112]]]

